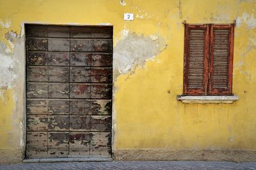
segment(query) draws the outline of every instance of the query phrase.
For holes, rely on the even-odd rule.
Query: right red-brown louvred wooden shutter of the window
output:
[[[234,24],[212,25],[209,94],[232,95]]]

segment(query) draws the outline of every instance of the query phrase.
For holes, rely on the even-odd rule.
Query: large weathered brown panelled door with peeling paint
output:
[[[113,27],[26,25],[26,158],[111,157]]]

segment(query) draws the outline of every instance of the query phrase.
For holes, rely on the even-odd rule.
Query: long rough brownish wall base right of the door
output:
[[[113,159],[255,162],[256,150],[114,150]]]

